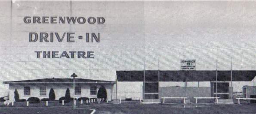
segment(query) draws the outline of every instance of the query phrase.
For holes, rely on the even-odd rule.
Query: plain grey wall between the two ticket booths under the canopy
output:
[[[160,97],[172,97],[172,96],[185,96],[184,87],[160,87],[159,88]],[[211,88],[210,87],[186,87],[186,97],[193,98],[198,97],[210,97]]]

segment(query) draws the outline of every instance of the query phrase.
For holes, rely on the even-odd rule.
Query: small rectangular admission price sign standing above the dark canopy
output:
[[[196,70],[196,60],[180,60],[181,70]]]

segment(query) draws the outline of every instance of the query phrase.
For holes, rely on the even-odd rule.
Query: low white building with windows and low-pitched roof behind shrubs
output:
[[[4,81],[3,84],[9,84],[9,100],[14,101],[15,89],[19,93],[19,99],[28,99],[37,97],[39,99],[49,98],[50,89],[54,90],[56,100],[65,96],[67,89],[70,90],[71,97],[97,98],[99,89],[105,89],[107,99],[113,99],[113,85],[115,81],[89,80],[83,78],[75,79],[75,95],[72,78],[43,78],[24,81]]]

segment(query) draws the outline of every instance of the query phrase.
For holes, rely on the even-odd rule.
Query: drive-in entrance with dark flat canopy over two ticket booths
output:
[[[125,81],[143,82],[143,102],[153,103],[162,102],[162,97],[187,97],[187,99],[195,100],[194,97],[216,97],[217,95],[219,100],[231,99],[231,93],[233,92],[233,88],[229,85],[229,81],[231,81],[231,71],[218,70],[217,72],[218,78],[216,87],[216,70],[116,71],[117,83]],[[255,76],[255,70],[232,71],[232,81],[252,81]],[[159,87],[159,83],[161,82],[197,81],[208,81],[210,87]],[[185,91],[186,94],[184,94]],[[216,101],[215,99],[209,99],[209,102]]]

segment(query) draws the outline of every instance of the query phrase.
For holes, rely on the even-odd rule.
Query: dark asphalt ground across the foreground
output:
[[[255,104],[139,104],[102,103],[68,106],[0,107],[0,114],[256,114]]]

